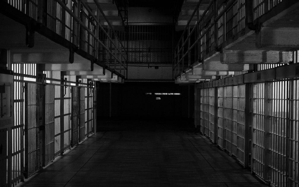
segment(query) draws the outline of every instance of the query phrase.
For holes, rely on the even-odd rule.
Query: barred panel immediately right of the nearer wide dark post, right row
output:
[[[252,171],[264,177],[265,85],[254,83],[252,104]]]

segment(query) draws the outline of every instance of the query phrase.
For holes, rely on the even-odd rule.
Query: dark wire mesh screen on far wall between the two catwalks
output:
[[[129,64],[172,64],[173,24],[130,23],[128,29]],[[126,34],[118,34],[126,46]]]

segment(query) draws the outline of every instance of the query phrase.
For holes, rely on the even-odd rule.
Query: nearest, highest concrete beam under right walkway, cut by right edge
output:
[[[257,48],[298,48],[298,33],[299,27],[262,27],[256,34],[256,46]]]

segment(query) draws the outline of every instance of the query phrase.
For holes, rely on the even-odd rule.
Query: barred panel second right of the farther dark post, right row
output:
[[[225,149],[237,154],[237,119],[234,112],[234,86],[225,87]]]

